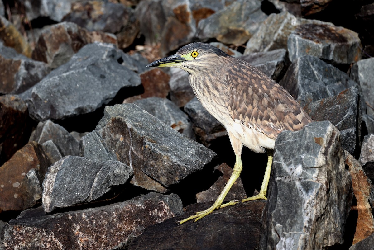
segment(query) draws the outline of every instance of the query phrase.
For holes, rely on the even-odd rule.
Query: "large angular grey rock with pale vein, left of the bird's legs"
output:
[[[119,104],[105,107],[96,129],[82,138],[80,156],[119,160],[134,169],[132,184],[166,192],[201,170],[215,153],[135,104]]]

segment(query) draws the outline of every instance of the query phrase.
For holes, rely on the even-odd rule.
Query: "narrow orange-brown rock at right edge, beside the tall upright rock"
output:
[[[370,207],[371,181],[365,175],[361,164],[352,155],[346,152],[346,164],[352,177],[352,189],[357,201],[357,226],[353,244],[369,237],[374,232],[374,219]]]

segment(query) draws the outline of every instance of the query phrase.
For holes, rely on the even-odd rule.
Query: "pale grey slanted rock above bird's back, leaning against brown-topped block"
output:
[[[297,18],[289,12],[272,13],[248,40],[244,55],[253,52],[287,49],[289,35],[301,24],[330,24],[318,20]]]

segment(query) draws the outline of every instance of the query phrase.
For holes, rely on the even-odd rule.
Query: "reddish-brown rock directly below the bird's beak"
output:
[[[125,99],[123,103],[131,103],[135,100],[152,96],[166,98],[169,94],[169,79],[170,76],[159,68],[143,72],[140,74],[140,80],[144,88],[144,93],[131,96]]]

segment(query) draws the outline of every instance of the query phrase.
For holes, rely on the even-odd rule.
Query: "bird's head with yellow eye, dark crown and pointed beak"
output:
[[[147,67],[174,67],[193,73],[216,67],[222,56],[229,55],[209,43],[190,43],[178,50],[175,55],[154,61]]]

